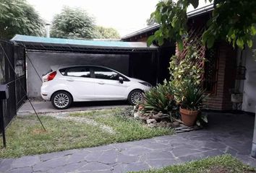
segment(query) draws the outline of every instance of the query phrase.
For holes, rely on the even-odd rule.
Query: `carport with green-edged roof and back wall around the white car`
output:
[[[158,47],[143,42],[71,40],[16,35],[12,42],[26,48],[27,94],[40,98],[41,76],[51,66],[107,66],[129,77],[158,83]]]

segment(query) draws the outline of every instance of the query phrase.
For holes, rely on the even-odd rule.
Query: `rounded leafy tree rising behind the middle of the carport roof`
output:
[[[64,6],[52,22],[51,36],[60,38],[93,38],[94,19],[85,10]]]

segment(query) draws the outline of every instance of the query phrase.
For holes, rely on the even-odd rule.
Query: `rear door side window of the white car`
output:
[[[64,75],[90,78],[90,68],[83,66],[67,68],[67,70],[64,72]]]

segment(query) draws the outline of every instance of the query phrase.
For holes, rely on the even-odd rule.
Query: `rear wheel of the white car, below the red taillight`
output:
[[[69,92],[55,92],[51,97],[51,104],[58,110],[65,110],[69,108],[72,102],[73,98]]]

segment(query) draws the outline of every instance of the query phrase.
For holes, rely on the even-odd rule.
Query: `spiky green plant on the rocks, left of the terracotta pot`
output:
[[[158,84],[145,92],[144,101],[140,104],[144,111],[168,113],[175,109],[174,92],[170,83]]]

